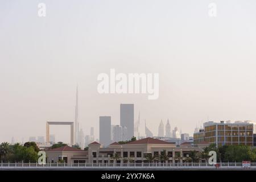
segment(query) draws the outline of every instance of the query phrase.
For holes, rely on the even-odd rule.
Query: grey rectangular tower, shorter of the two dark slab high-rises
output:
[[[111,142],[111,117],[100,117],[100,143],[108,146]]]

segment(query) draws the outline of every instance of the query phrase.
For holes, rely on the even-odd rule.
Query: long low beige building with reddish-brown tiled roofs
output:
[[[47,162],[57,162],[60,159],[65,163],[143,163],[147,155],[159,156],[163,150],[168,155],[168,163],[184,163],[191,151],[200,152],[208,146],[203,142],[193,146],[184,142],[180,146],[154,138],[144,138],[126,144],[114,142],[108,147],[93,142],[88,145],[88,151],[72,147],[60,147],[46,151]]]

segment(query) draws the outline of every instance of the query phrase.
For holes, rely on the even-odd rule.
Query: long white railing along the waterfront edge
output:
[[[219,168],[242,168],[242,163],[217,163]],[[208,163],[0,163],[1,168],[216,168]],[[256,168],[256,163],[251,163]]]

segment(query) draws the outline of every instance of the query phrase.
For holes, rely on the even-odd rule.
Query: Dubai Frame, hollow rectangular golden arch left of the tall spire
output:
[[[49,143],[49,125],[70,125],[70,144],[74,142],[74,122],[46,122],[46,142]]]

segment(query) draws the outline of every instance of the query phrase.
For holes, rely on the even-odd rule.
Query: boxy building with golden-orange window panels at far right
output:
[[[207,143],[216,143],[216,146],[247,145],[253,146],[253,124],[252,123],[208,123],[204,130],[194,134],[194,142],[200,140]]]

